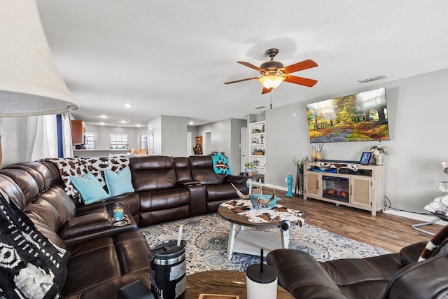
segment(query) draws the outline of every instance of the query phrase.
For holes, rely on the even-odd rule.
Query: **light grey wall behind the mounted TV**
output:
[[[385,159],[386,197],[392,207],[423,211],[424,205],[443,195],[436,190],[438,181],[448,181],[440,166],[440,162],[448,160],[447,82],[448,69],[444,69],[267,110],[267,183],[286,187],[284,178],[295,174],[293,155],[298,159],[311,155],[305,104],[385,87],[391,136],[391,140],[381,141],[389,151]],[[323,158],[359,160],[360,154],[375,144],[376,141],[327,143]]]

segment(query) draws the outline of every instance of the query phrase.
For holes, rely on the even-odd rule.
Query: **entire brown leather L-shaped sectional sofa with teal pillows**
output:
[[[246,192],[246,179],[215,174],[208,156],[130,158],[135,192],[83,205],[64,191],[50,161],[0,169],[0,190],[25,211],[50,241],[70,252],[66,298],[116,298],[133,281],[151,288],[150,248],[139,227],[206,214]],[[127,225],[113,225],[113,207],[125,209]]]

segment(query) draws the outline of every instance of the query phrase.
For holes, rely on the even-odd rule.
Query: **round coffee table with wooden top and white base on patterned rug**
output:
[[[248,220],[247,216],[241,215],[228,208],[228,202],[223,202],[218,207],[218,214],[230,222],[230,232],[228,240],[228,259],[232,258],[232,253],[245,253],[254,256],[260,255],[260,249],[263,249],[265,256],[269,251],[277,248],[288,248],[289,246],[289,229],[282,230],[279,221],[266,221],[261,223],[255,223]],[[290,199],[282,199],[278,202],[279,205],[294,211],[301,211],[301,218],[307,218],[306,211],[300,209],[298,204]],[[266,209],[253,210],[262,216]],[[240,226],[239,232],[237,231],[238,225]],[[297,222],[290,223],[290,227],[297,225]],[[246,230],[245,226],[258,228],[258,230]],[[276,232],[268,232],[263,229],[276,228]]]

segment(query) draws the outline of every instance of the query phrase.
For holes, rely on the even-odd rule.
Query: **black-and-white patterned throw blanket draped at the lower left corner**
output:
[[[58,298],[69,252],[53,245],[0,194],[0,298]]]

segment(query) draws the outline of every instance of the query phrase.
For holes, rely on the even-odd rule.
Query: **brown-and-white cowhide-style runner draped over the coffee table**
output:
[[[304,223],[304,218],[301,217],[303,215],[302,211],[288,209],[281,204],[276,204],[272,209],[252,209],[250,200],[230,200],[222,205],[238,215],[246,216],[248,221],[252,223],[289,221],[300,226]]]

